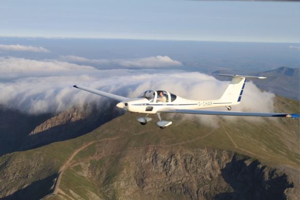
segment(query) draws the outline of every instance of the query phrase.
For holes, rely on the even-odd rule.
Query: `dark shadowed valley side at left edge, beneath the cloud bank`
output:
[[[86,133],[122,115],[121,110],[114,108],[115,104],[109,104],[99,111],[96,106],[90,106],[90,112],[86,117],[76,121],[65,120],[63,124],[56,125],[56,116],[51,114],[30,115],[16,110],[0,111],[2,121],[0,129],[0,156],[15,151],[25,151],[42,147],[53,142],[65,141]],[[72,112],[65,115],[71,115]],[[9,116],[9,120],[5,119]],[[54,119],[52,119],[52,118]],[[46,127],[34,134],[31,132],[41,124]]]

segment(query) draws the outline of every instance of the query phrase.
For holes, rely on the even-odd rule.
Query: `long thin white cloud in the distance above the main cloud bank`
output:
[[[169,56],[152,56],[137,59],[88,59],[85,57],[79,57],[75,55],[59,56],[62,61],[76,62],[76,63],[90,63],[98,65],[119,65],[123,67],[170,67],[170,66],[182,66],[179,61],[174,61]]]

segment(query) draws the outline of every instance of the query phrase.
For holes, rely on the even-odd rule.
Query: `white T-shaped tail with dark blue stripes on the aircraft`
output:
[[[247,78],[266,78],[261,76],[244,76],[231,74],[217,74],[219,76],[233,77],[224,94],[219,99],[220,102],[236,105],[241,103]]]

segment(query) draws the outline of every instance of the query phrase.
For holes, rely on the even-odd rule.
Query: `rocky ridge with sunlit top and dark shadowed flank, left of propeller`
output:
[[[41,147],[86,134],[122,114],[115,111],[114,107],[108,105],[99,110],[95,105],[86,105],[58,113],[31,130],[19,150]]]

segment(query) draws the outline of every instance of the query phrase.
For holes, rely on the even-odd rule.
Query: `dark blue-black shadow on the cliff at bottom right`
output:
[[[286,174],[266,168],[258,161],[250,164],[245,161],[233,157],[221,170],[233,192],[217,194],[215,199],[286,199],[285,190],[294,187]]]

